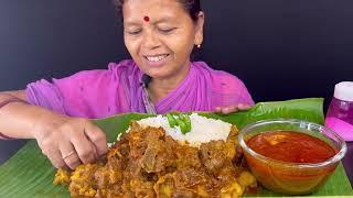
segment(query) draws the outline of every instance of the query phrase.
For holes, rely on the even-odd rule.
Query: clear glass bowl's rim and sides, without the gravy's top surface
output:
[[[320,163],[291,163],[272,160],[248,147],[254,135],[274,131],[291,131],[318,138],[335,151],[335,155]],[[247,164],[266,188],[280,194],[304,195],[322,186],[346,153],[344,140],[332,130],[301,120],[263,120],[240,130],[238,135]]]

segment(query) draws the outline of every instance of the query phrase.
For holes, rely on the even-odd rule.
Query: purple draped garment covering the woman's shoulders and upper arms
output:
[[[105,118],[124,112],[146,112],[141,70],[133,61],[111,63],[106,70],[85,70],[73,76],[28,85],[30,103],[73,117]],[[237,77],[194,62],[186,78],[162,100],[158,113],[213,111],[218,106],[254,105]]]

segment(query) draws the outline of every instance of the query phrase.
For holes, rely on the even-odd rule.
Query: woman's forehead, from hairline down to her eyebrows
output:
[[[188,14],[178,0],[128,0],[124,3],[125,22],[172,20]]]

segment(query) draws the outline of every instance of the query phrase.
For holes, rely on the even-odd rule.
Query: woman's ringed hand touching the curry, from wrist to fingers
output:
[[[51,114],[39,119],[32,135],[56,168],[74,169],[108,151],[105,133],[88,119]]]

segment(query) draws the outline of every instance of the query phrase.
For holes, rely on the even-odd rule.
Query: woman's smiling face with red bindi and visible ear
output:
[[[122,14],[126,47],[142,72],[162,79],[185,74],[203,40],[203,13],[194,23],[176,0],[126,0]]]

